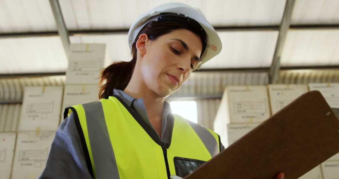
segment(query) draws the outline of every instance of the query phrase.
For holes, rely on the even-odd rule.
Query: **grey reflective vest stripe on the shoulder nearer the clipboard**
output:
[[[192,121],[187,120],[194,131],[200,137],[202,143],[205,144],[208,152],[210,152],[211,156],[214,157],[219,153],[218,143],[215,140],[214,136],[208,131],[205,127],[194,123]]]

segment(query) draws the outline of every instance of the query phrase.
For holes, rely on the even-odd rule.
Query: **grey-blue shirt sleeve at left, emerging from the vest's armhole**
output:
[[[89,174],[73,113],[60,124],[39,179],[92,179]]]

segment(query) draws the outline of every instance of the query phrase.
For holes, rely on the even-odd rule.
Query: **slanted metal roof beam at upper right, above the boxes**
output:
[[[272,64],[268,73],[268,81],[270,84],[276,83],[279,80],[280,56],[286,40],[287,31],[290,28],[291,18],[295,0],[287,0],[284,14],[282,16],[277,45],[274,51]]]

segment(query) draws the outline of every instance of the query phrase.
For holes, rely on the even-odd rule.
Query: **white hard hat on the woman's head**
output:
[[[142,27],[144,27],[150,21],[161,20],[162,15],[168,15],[168,13],[173,13],[173,16],[182,16],[187,19],[187,23],[190,23],[190,19],[195,20],[203,28],[206,33],[206,48],[203,49],[203,54],[201,55],[201,61],[194,68],[199,69],[200,66],[206,61],[210,60],[214,56],[218,55],[221,51],[222,44],[221,40],[213,28],[213,26],[207,22],[206,17],[202,14],[199,8],[193,8],[183,3],[172,2],[162,4],[155,7],[151,11],[148,11],[141,15],[129,28],[128,31],[128,46],[132,50],[132,44],[137,38]],[[192,20],[191,20],[192,22]],[[195,23],[196,23],[195,22]],[[190,23],[191,24],[191,23]],[[194,24],[193,24],[194,25]],[[203,45],[204,46],[204,45]]]

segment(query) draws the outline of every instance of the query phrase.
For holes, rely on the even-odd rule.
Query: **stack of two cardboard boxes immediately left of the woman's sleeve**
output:
[[[59,127],[62,86],[26,86],[12,179],[38,178]]]

